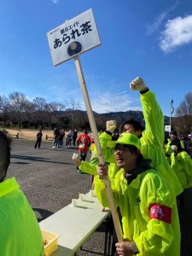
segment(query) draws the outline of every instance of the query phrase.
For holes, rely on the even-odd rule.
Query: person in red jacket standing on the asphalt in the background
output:
[[[79,145],[79,154],[80,154],[80,160],[84,161],[86,159],[87,156],[87,152],[89,150],[90,147],[90,137],[88,135],[89,133],[89,129],[84,129],[84,133],[80,134],[77,140],[77,143]],[[79,166],[77,166],[77,170],[80,172],[79,170]]]

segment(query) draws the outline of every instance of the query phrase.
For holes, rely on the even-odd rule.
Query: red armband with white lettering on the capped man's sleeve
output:
[[[150,218],[160,219],[168,224],[172,222],[172,208],[162,205],[152,205],[150,207]]]

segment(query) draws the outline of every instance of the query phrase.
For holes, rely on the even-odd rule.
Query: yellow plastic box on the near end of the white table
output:
[[[44,256],[49,256],[57,250],[57,243],[59,235],[49,232],[47,230],[41,230],[43,241],[48,243],[44,245]]]

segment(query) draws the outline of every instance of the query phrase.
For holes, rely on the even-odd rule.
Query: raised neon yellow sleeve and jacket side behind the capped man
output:
[[[166,160],[164,152],[164,117],[157,103],[154,93],[148,92],[141,94],[143,115],[145,119],[145,130],[141,137],[142,154],[145,159],[151,159],[150,166],[156,169],[165,177],[170,188],[176,195],[179,195],[183,188],[179,183],[177,175]]]

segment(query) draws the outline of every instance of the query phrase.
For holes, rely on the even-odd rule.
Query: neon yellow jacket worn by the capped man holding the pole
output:
[[[95,180],[96,195],[108,207],[105,185]],[[152,169],[142,172],[128,185],[123,169],[111,181],[116,206],[122,215],[124,238],[135,241],[137,256],[179,256],[180,228],[175,196],[166,186],[163,177]],[[150,218],[154,204],[172,208],[171,224]]]

